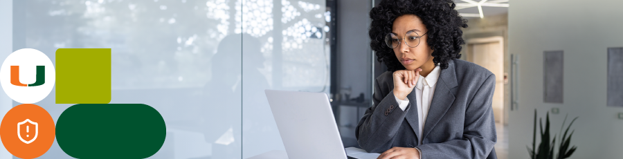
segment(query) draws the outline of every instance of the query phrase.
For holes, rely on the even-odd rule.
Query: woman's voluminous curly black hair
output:
[[[465,44],[461,28],[467,28],[467,19],[456,11],[452,0],[382,0],[370,10],[370,47],[377,60],[385,62],[387,71],[404,70],[392,48],[386,46],[385,35],[392,32],[392,24],[401,15],[415,15],[428,29],[428,45],[433,48],[433,62],[448,68],[448,62],[461,57]]]

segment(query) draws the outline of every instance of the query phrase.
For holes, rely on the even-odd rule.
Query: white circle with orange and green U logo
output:
[[[0,68],[0,84],[16,102],[33,104],[46,98],[54,87],[52,61],[39,50],[23,48],[11,53]]]

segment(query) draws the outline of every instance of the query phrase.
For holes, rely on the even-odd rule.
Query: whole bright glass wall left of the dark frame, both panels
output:
[[[283,150],[264,89],[329,93],[325,0],[14,0],[12,19],[13,50],[53,62],[57,48],[111,48],[111,103],[165,119],[151,158]],[[55,91],[37,104],[55,120],[71,106]],[[55,143],[41,158],[71,157]]]

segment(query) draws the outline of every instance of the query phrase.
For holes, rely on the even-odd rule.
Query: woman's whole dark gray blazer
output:
[[[419,144],[415,92],[407,95],[405,111],[399,109],[392,72],[387,71],[374,82],[374,106],[357,124],[357,142],[365,151],[377,153],[392,147],[417,147],[424,159],[487,158],[497,141],[491,110],[495,86],[496,76],[486,68],[450,60],[437,80]]]

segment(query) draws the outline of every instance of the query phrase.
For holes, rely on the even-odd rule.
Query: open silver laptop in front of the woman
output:
[[[377,158],[343,147],[329,97],[325,93],[266,90],[288,158]],[[359,149],[361,150],[361,149]]]

